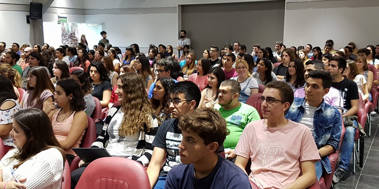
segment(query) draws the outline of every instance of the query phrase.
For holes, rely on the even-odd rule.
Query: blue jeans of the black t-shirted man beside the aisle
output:
[[[353,124],[357,126],[358,122],[354,120]],[[354,127],[345,128],[345,136],[343,136],[343,143],[341,147],[341,161],[338,163],[338,165],[345,170],[348,170],[349,168],[351,152],[354,149],[354,137],[356,130],[357,129]]]

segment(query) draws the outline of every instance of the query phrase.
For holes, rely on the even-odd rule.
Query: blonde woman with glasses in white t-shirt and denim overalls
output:
[[[241,86],[240,97],[238,101],[245,103],[247,99],[255,93],[258,93],[258,82],[248,71],[249,65],[245,60],[236,61],[236,71],[238,76],[230,79],[238,81]]]

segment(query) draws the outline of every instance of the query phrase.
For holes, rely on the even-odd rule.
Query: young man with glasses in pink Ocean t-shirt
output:
[[[251,160],[249,179],[260,189],[312,186],[320,156],[308,127],[284,117],[293,102],[290,85],[270,82],[259,99],[265,119],[246,125],[234,150],[235,164],[245,170]]]

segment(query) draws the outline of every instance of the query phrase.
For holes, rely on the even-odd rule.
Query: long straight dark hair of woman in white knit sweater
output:
[[[50,118],[44,111],[38,108],[20,110],[13,115],[13,121],[17,122],[27,138],[25,144],[18,147],[19,152],[11,157],[19,160],[19,163],[14,165],[13,169],[18,168],[39,152],[50,148],[56,148],[61,152],[63,158],[62,166],[64,166],[66,153],[56,139]]]

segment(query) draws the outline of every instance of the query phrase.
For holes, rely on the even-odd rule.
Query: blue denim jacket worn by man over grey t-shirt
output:
[[[285,118],[294,122],[300,122],[304,112],[305,99],[294,98]],[[323,100],[315,111],[313,127],[313,139],[315,139],[317,149],[330,145],[335,150],[338,150],[342,132],[342,116],[337,108],[326,104]],[[332,169],[330,167],[329,157],[325,156],[321,158],[321,163],[326,172],[330,174]]]

